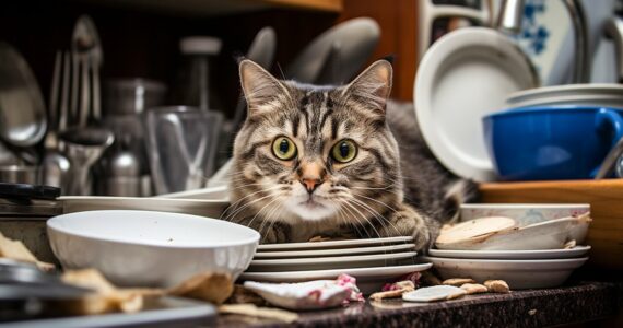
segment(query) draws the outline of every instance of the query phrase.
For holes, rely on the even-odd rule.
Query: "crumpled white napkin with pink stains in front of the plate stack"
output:
[[[355,278],[348,274],[340,274],[336,280],[298,283],[246,281],[244,286],[272,305],[290,309],[318,309],[336,307],[348,302],[364,302]]]

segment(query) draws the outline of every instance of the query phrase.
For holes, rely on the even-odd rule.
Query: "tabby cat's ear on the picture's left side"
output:
[[[274,109],[272,101],[287,93],[279,80],[251,60],[240,61],[239,70],[249,117]]]

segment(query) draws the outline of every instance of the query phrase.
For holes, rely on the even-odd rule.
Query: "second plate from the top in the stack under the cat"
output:
[[[373,246],[357,248],[337,248],[337,249],[319,249],[319,250],[290,250],[290,251],[258,251],[256,259],[261,258],[304,258],[304,257],[321,257],[321,256],[340,256],[355,254],[387,254],[397,250],[413,250],[415,244],[398,244],[391,246]]]

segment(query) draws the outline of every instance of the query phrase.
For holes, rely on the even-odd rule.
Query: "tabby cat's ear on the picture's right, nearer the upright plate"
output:
[[[385,114],[387,98],[391,92],[391,63],[377,60],[346,85],[342,95],[354,97],[362,105]]]

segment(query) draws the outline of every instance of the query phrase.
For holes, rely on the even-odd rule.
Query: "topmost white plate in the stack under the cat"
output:
[[[368,238],[368,239],[346,239],[346,241],[329,241],[329,242],[307,242],[307,243],[284,243],[284,244],[263,244],[258,246],[258,251],[265,250],[286,250],[286,249],[310,249],[310,248],[351,248],[364,245],[388,245],[398,243],[411,243],[412,236],[387,237],[387,238]]]

